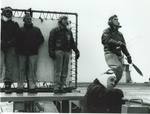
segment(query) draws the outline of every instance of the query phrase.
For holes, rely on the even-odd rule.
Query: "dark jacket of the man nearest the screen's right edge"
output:
[[[49,53],[55,50],[62,50],[69,52],[73,49],[78,51],[73,39],[72,32],[65,28],[56,27],[50,32],[49,37]]]

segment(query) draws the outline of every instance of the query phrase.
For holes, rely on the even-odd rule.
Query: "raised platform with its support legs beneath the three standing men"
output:
[[[60,103],[60,113],[63,113],[62,109],[63,109],[64,101],[69,102],[68,108],[69,108],[69,113],[71,113],[72,101],[82,101],[84,98],[84,94],[82,93],[66,93],[66,94],[38,93],[34,95],[28,94],[28,93],[23,93],[23,95],[17,95],[16,93],[6,95],[5,93],[0,93],[0,96],[1,96],[1,102],[6,102],[6,101],[13,101],[15,103],[24,102],[25,111],[29,110],[30,112],[35,112],[34,105],[37,105],[38,108],[40,109],[42,108],[40,107],[40,105],[38,105],[39,101],[56,101]],[[18,104],[15,104],[15,105],[18,105]],[[59,104],[56,103],[55,105],[57,106]],[[17,106],[14,106],[14,111],[15,111],[15,107]]]

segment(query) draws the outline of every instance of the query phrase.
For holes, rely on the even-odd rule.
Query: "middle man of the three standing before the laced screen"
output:
[[[29,92],[36,92],[36,71],[38,50],[44,42],[41,30],[32,23],[29,13],[23,17],[24,25],[20,30],[20,37],[17,39],[16,52],[19,58],[18,93],[23,92],[24,77],[27,75]]]

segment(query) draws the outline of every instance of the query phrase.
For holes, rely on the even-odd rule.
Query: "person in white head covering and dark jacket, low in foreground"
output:
[[[88,86],[84,98],[84,112],[87,113],[119,113],[123,104],[123,92],[114,88],[116,77],[111,71],[96,77]]]

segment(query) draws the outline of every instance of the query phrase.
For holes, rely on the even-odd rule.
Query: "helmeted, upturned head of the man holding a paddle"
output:
[[[108,19],[108,25],[110,27],[117,27],[117,28],[120,28],[120,23],[118,21],[118,17],[117,15],[113,15],[111,16],[109,19]]]

